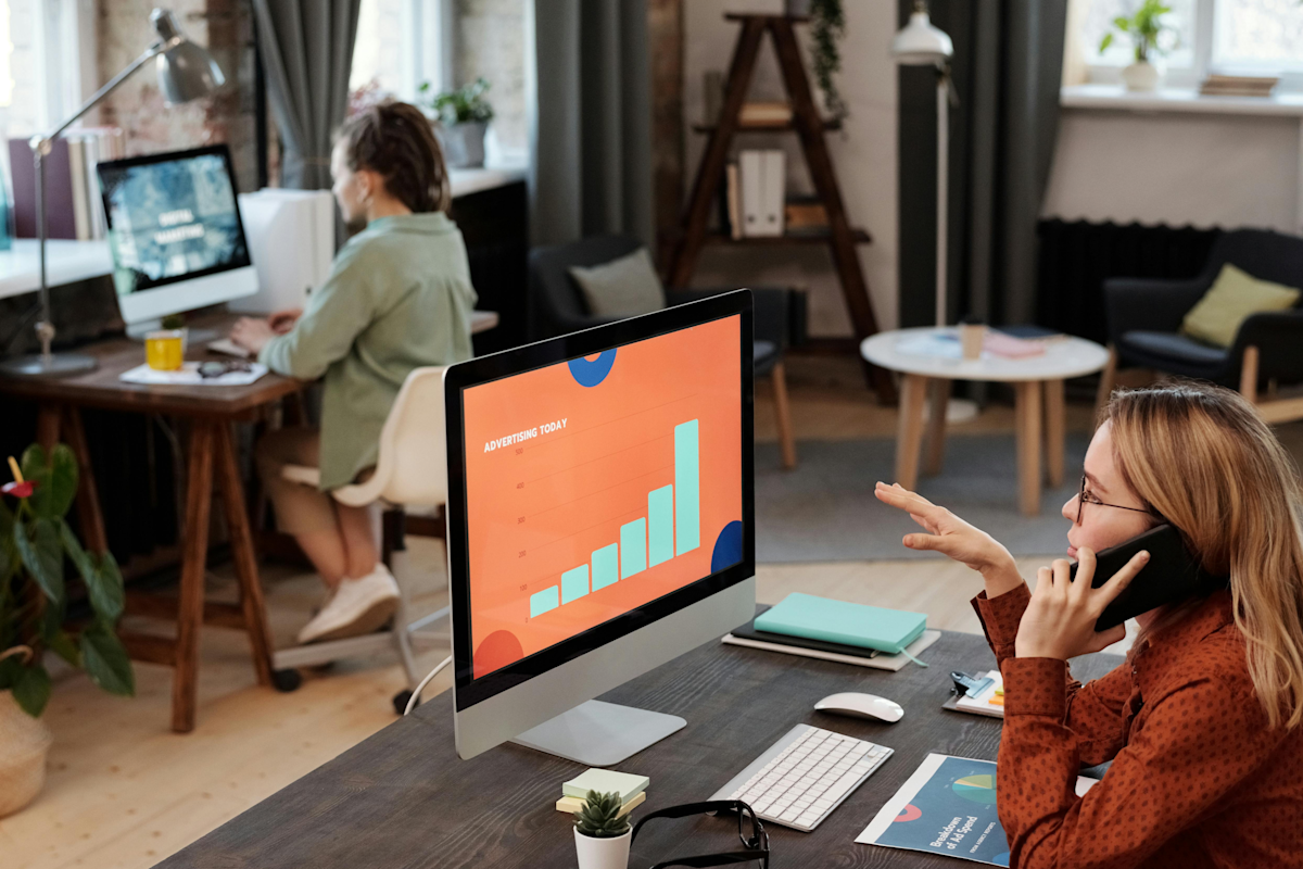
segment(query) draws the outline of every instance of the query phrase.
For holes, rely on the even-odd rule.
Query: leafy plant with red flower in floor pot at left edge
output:
[[[46,650],[109,693],[136,692],[132,662],[115,633],[122,576],[112,555],[85,551],[64,522],[77,492],[77,460],[63,444],[48,457],[33,446],[21,466],[9,459],[9,468],[13,482],[0,486],[0,817],[30,803],[46,780]],[[90,621],[76,633],[65,625],[65,558],[86,582],[90,602]]]

